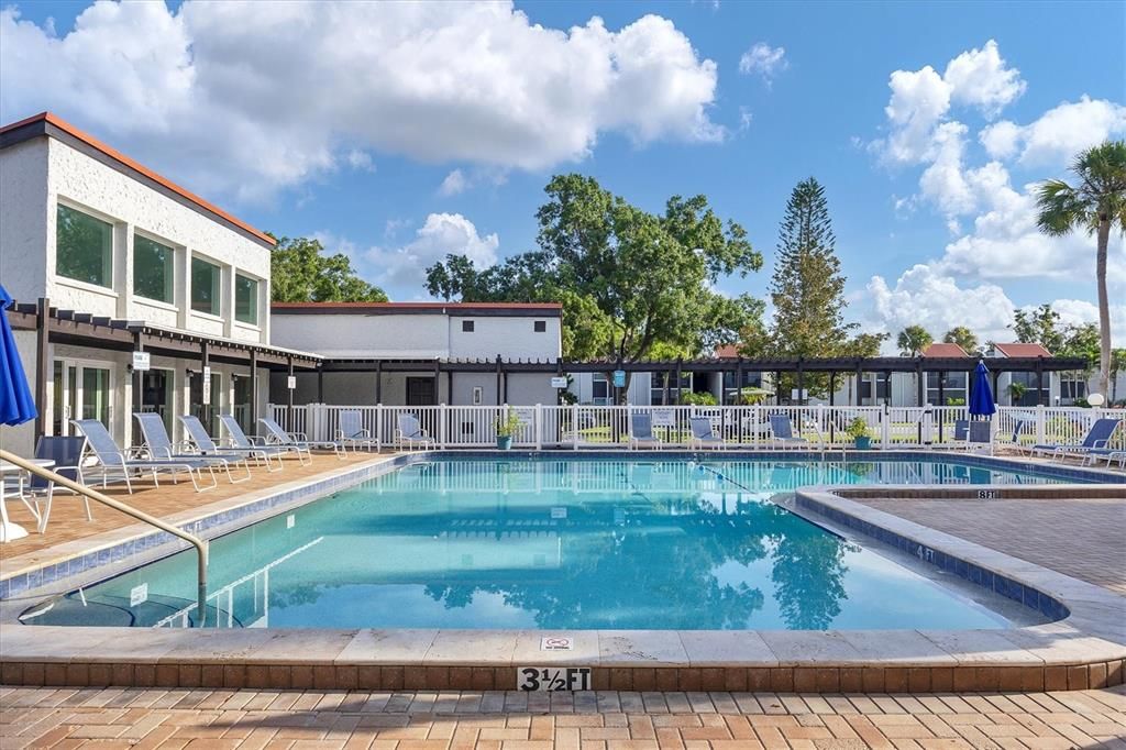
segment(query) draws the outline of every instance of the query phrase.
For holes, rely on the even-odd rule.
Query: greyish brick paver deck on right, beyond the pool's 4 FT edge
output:
[[[1118,499],[854,500],[1126,595],[1126,489]]]

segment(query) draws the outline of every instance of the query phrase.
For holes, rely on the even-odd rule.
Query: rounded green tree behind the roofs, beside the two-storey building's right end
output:
[[[274,302],[386,302],[379,287],[368,284],[342,252],[325,255],[320,240],[283,236],[270,253],[270,297]]]

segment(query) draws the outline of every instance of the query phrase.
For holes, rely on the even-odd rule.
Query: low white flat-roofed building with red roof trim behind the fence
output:
[[[338,405],[554,404],[547,372],[509,372],[512,363],[548,365],[562,356],[555,303],[275,303],[274,340],[315,350],[318,373],[270,382],[274,403]]]

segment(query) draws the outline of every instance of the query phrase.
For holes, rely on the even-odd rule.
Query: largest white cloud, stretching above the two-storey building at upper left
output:
[[[606,132],[725,135],[715,63],[653,15],[555,29],[510,2],[97,2],[63,37],[3,8],[0,36],[5,120],[52,109],[247,197],[354,152],[542,169]]]

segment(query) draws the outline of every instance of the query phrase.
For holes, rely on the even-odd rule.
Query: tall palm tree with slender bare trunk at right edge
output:
[[[1037,225],[1049,236],[1084,229],[1098,238],[1094,275],[1099,288],[1099,389],[1110,385],[1110,303],[1107,298],[1107,245],[1115,224],[1126,233],[1126,141],[1106,142],[1075,158],[1072,187],[1045,180],[1037,188]]]

